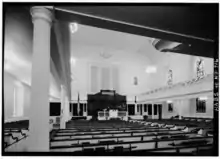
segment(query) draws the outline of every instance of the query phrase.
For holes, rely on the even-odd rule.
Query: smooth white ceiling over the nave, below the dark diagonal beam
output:
[[[165,56],[151,44],[152,38],[78,24],[71,33],[71,55],[89,61],[156,65]],[[102,58],[111,56],[110,58]]]

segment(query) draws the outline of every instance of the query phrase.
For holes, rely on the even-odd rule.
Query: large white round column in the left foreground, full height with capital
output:
[[[44,7],[31,8],[33,55],[28,151],[49,151],[49,75],[52,14]]]

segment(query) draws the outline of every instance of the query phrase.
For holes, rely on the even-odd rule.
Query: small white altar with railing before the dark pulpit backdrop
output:
[[[103,110],[98,112],[98,120],[111,120],[111,119],[121,119],[128,120],[127,111],[119,111],[115,109]]]

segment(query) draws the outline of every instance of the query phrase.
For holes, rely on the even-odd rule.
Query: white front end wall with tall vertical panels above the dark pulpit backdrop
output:
[[[95,67],[96,73],[91,71]],[[103,68],[108,70],[108,75],[103,76]],[[135,95],[165,85],[165,73],[158,67],[157,73],[147,74],[146,67],[135,63],[114,64],[111,62],[89,61],[76,59],[72,66],[72,100],[86,100],[88,93],[97,93],[101,89],[114,89],[117,93],[127,95],[128,101],[134,101]],[[95,76],[95,77],[94,77]],[[109,79],[105,79],[109,77]],[[138,85],[134,85],[134,77],[138,78]],[[103,82],[105,81],[105,82]],[[137,99],[138,100],[138,99]]]

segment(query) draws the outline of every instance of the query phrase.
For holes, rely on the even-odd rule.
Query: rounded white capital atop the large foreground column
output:
[[[32,16],[32,21],[34,21],[36,19],[43,19],[50,24],[53,21],[52,12],[44,6],[31,7],[30,12],[31,12],[31,16]]]

